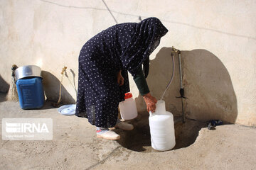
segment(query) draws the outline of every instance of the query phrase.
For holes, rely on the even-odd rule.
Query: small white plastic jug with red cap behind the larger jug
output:
[[[137,117],[137,107],[132,93],[127,93],[124,96],[125,101],[119,103],[120,115],[124,120],[131,120]]]

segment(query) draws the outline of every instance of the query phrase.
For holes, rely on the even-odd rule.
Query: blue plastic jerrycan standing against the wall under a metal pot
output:
[[[23,109],[41,108],[45,101],[41,77],[16,81],[18,100]]]

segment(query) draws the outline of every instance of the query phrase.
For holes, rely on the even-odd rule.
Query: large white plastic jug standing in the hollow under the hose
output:
[[[157,101],[156,111],[149,114],[151,147],[159,151],[174,148],[174,115],[166,111],[165,102]]]

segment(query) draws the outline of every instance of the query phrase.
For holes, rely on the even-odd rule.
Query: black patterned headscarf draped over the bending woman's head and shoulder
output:
[[[137,23],[132,39],[121,56],[124,69],[134,76],[137,69],[144,64],[146,77],[149,72],[149,55],[167,32],[168,30],[158,18],[146,18]]]

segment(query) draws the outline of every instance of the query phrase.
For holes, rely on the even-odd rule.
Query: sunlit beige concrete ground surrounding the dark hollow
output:
[[[87,119],[60,115],[50,103],[24,111],[3,97],[1,118],[52,118],[53,140],[1,140],[0,169],[256,169],[256,128],[221,125],[208,130],[206,123],[188,120],[185,128],[176,125],[178,147],[157,152],[148,132],[142,132],[149,130],[144,117],[132,122],[133,132],[117,130],[122,140],[107,141],[97,139]]]

